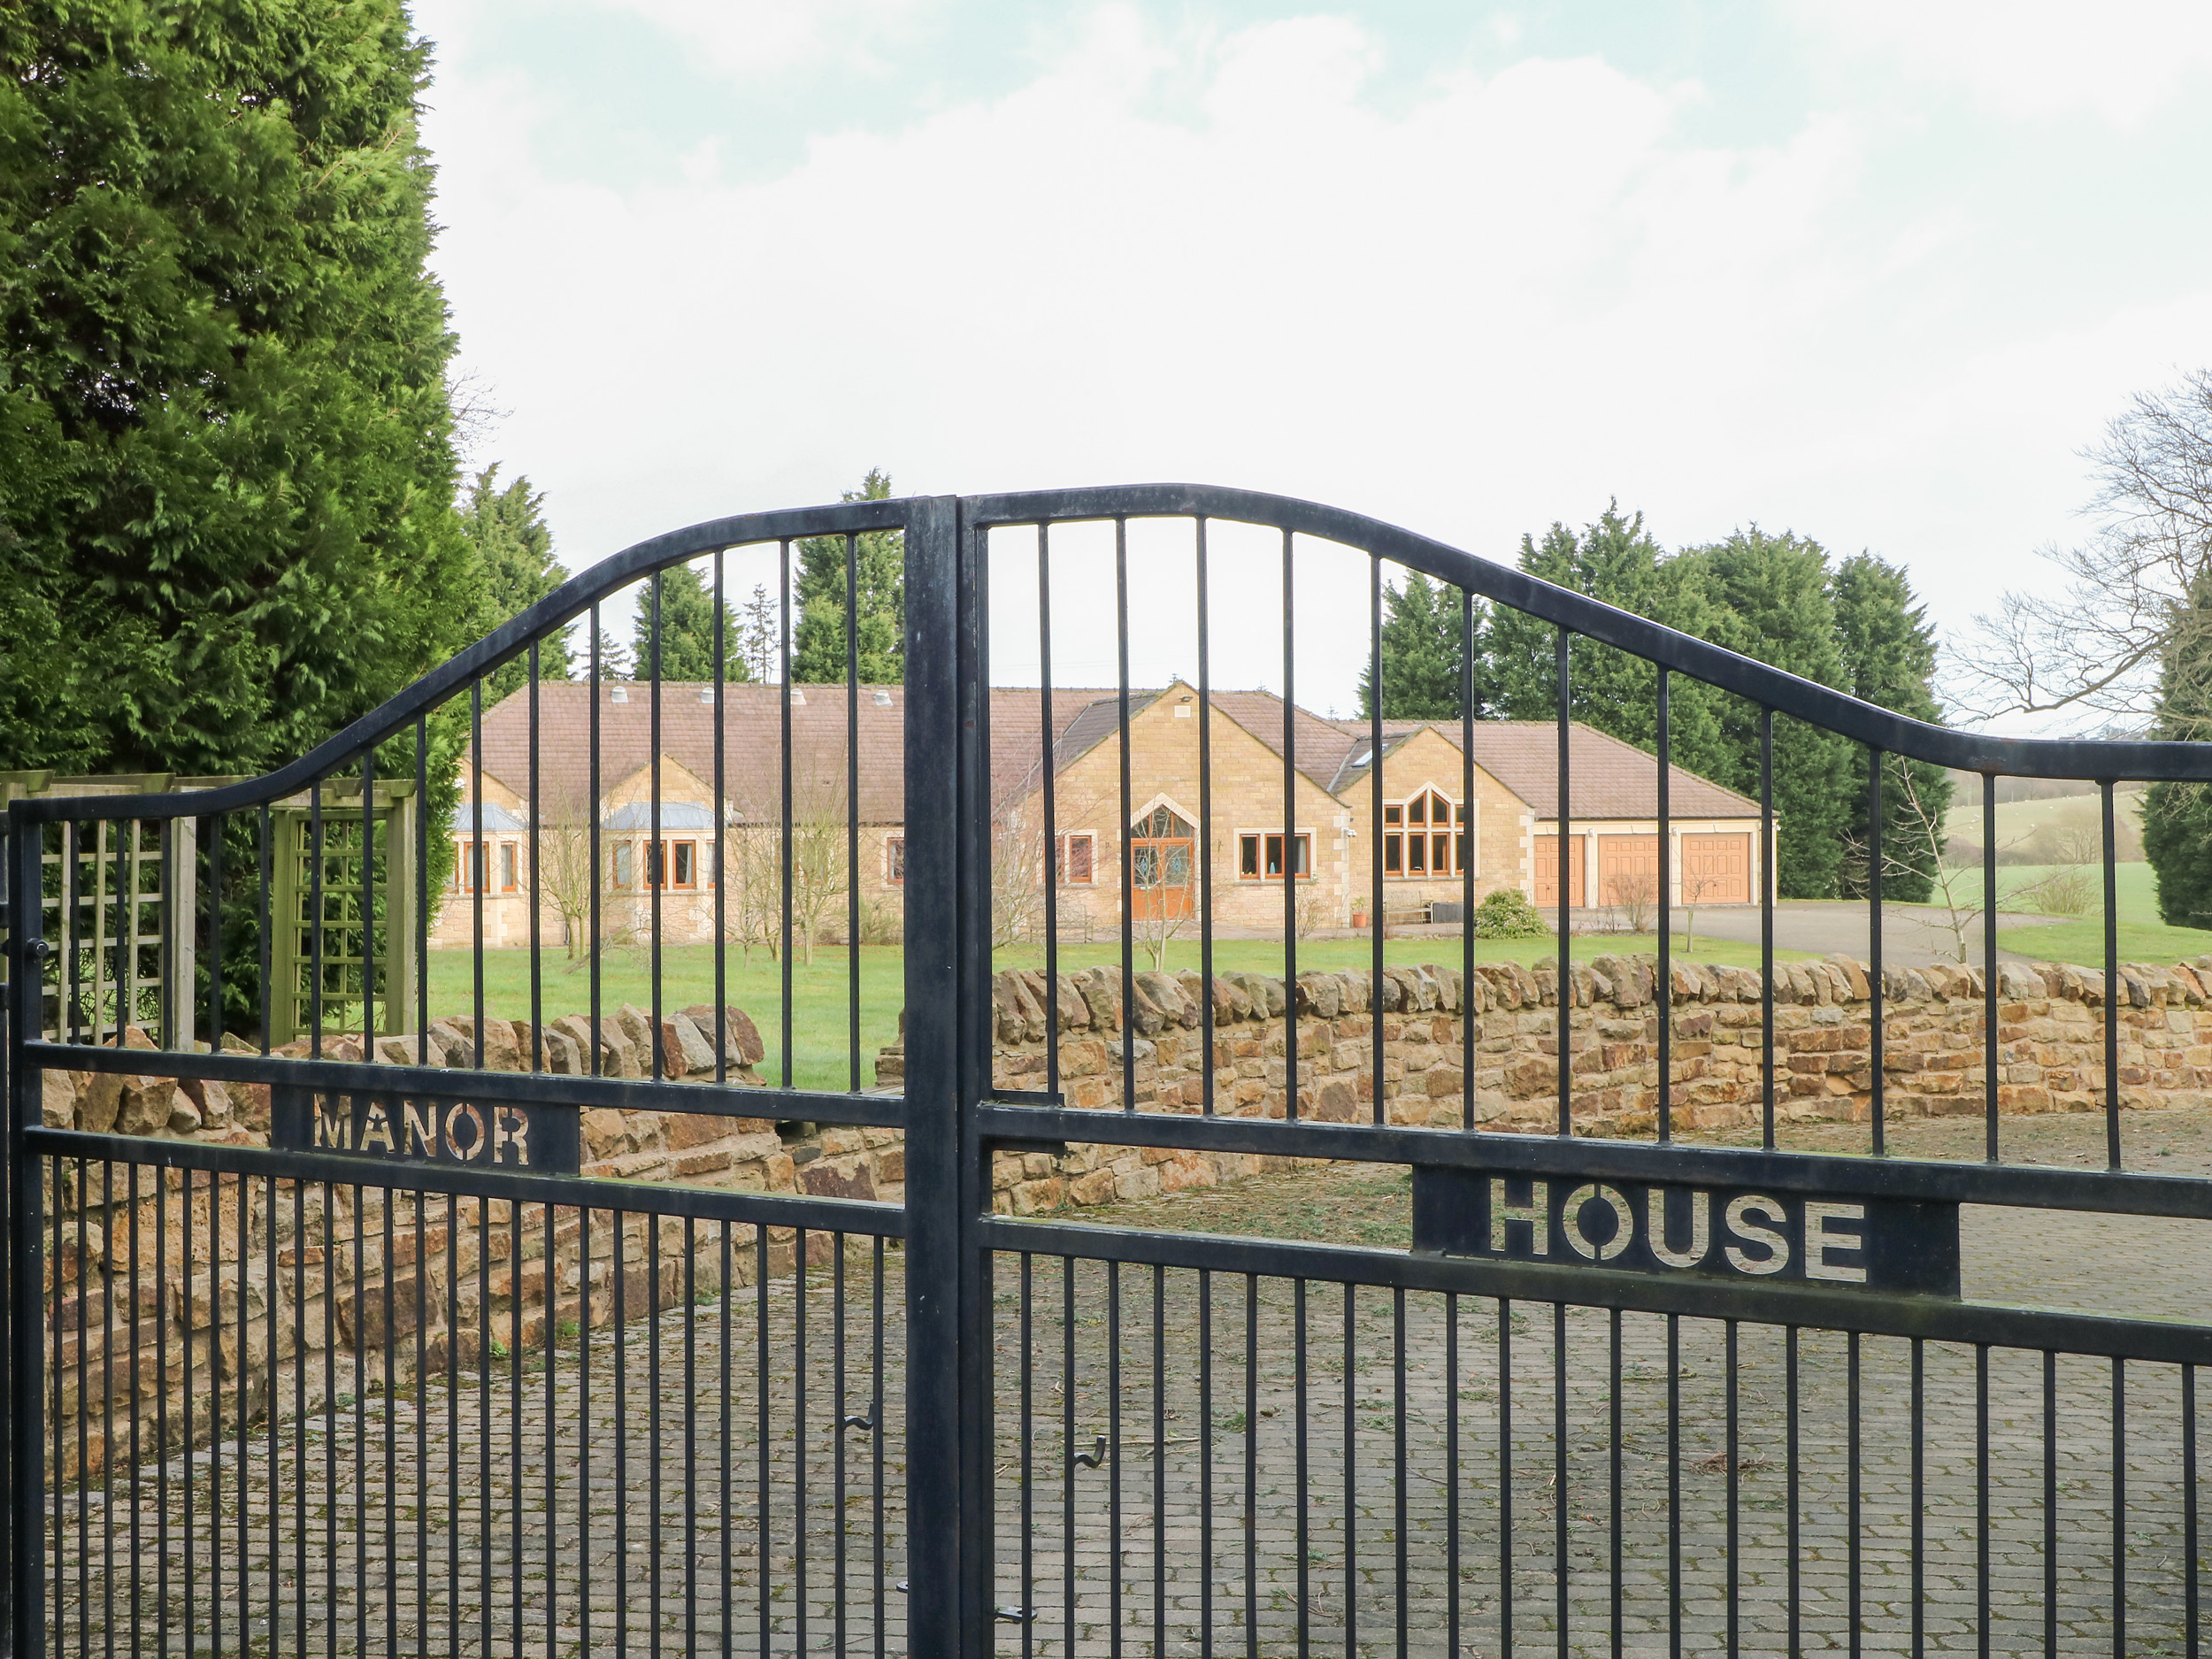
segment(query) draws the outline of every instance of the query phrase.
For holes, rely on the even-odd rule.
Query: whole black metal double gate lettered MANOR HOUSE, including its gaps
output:
[[[887,533],[902,681],[872,686]],[[843,560],[843,608],[812,599],[843,684],[792,679],[794,551],[816,582]],[[721,622],[710,681],[661,672],[659,573],[701,557],[717,599],[765,573],[765,684],[728,675]],[[1464,918],[1533,869],[1482,863],[1533,825],[1478,810],[1471,701],[1427,737],[1298,703],[1301,672],[1383,684],[1385,566],[1442,584],[1469,650],[1480,604],[1555,628],[1555,876],[1575,661],[1648,672],[1657,964],[1610,969],[1644,987],[1608,978],[1610,1015],[1564,878],[1557,958],[1511,995],[1473,927],[1429,967],[1385,938],[1416,872],[1420,914]],[[637,584],[615,681],[599,608]],[[540,672],[573,622],[582,688]],[[1765,761],[1761,971],[1730,1002],[1754,1146],[1692,1110],[1679,679],[1741,699]],[[1867,1048],[1849,1150],[1783,1146],[1856,1084],[1794,1082],[1776,721],[1876,761],[1871,962],[1816,998]],[[1993,925],[1953,991],[1982,1139],[1885,1146],[1885,1042],[1918,1037],[1885,1013],[1882,757],[1980,774],[1986,823],[1997,776],[2101,785],[2104,1168],[2006,1161],[2048,1033],[2006,1015]],[[1940,730],[1374,520],[1133,487],[717,520],[265,779],[15,801],[11,1650],[2197,1655],[2201,1303],[2008,1307],[1971,1272],[2000,1210],[2212,1219],[2212,1181],[2124,1157],[2197,1026],[2117,960],[2121,779],[2212,779],[2212,752]],[[380,781],[422,803],[409,860],[363,812]],[[117,849],[181,821],[199,916],[148,938]],[[1159,823],[1194,830],[1188,900],[1130,854]],[[184,949],[197,973],[142,960]],[[272,998],[305,1009],[290,1051],[161,1046],[268,1033]],[[1495,1044],[1548,1077],[1548,1133],[1478,1121]],[[1409,1248],[1071,1219],[1312,1161],[1407,1170]],[[2154,1250],[2179,1283],[2208,1259]]]

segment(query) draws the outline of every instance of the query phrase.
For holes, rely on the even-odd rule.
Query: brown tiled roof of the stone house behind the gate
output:
[[[613,690],[628,701],[613,701]],[[714,706],[701,701],[695,681],[661,686],[661,754],[712,783]],[[792,703],[792,781],[799,801],[843,805],[845,792],[845,688],[799,686],[805,701]],[[1159,697],[1130,690],[1130,710]],[[781,737],[781,686],[723,686],[723,776],[730,803],[748,818],[779,810],[776,750]],[[1263,690],[1212,692],[1228,719],[1283,754],[1283,699]],[[860,821],[905,821],[905,708],[902,686],[863,686],[858,695]],[[599,790],[606,792],[650,759],[653,695],[646,684],[599,686]],[[1099,688],[1055,686],[1055,768],[1113,737],[1119,695]],[[1385,776],[1389,752],[1422,730],[1422,721],[1389,721],[1383,728]],[[1455,721],[1429,721],[1453,748]],[[1042,757],[1044,706],[1033,686],[991,692],[991,796],[1011,801],[1035,787]],[[1356,783],[1367,770],[1365,721],[1329,721],[1303,708],[1292,712],[1298,770],[1332,794]],[[562,816],[580,803],[591,779],[591,688],[582,684],[540,686],[538,737],[540,794],[544,810]],[[1557,728],[1551,721],[1475,721],[1475,763],[1531,805],[1537,818],[1557,816]],[[1652,757],[1579,721],[1571,737],[1573,810],[1582,818],[1652,818],[1659,785]],[[484,710],[484,772],[529,796],[529,695],[515,692]],[[1701,776],[1672,768],[1677,818],[1741,818],[1759,803]]]

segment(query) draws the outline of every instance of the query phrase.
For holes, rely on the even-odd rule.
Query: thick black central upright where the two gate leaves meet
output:
[[[982,615],[960,500],[907,522],[907,1650],[991,1652],[991,1296],[975,1219]],[[978,958],[978,951],[982,953]],[[989,1055],[982,1055],[989,1064]]]

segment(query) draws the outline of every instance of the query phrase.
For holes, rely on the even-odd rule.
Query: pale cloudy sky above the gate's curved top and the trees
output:
[[[2212,7],[418,0],[480,460],[717,513],[1190,478],[1511,557],[1608,498],[1944,626],[2212,363]]]

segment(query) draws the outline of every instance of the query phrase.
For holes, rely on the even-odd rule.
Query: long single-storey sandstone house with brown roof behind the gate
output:
[[[816,938],[849,929],[845,865],[858,852],[860,936],[896,927],[905,885],[905,690],[860,686],[726,686],[717,728],[714,688],[664,684],[659,748],[646,684],[540,686],[535,741],[538,858],[546,949],[586,927],[597,887],[604,936],[644,931],[655,896],[661,936],[714,936],[717,896],[728,938],[781,927],[783,732],[790,730],[790,865],[801,927]],[[597,706],[597,708],[595,708]],[[1287,708],[1263,690],[1210,697],[1203,732],[1210,787],[1201,787],[1197,688],[1128,695],[1128,821],[1121,823],[1121,699],[1115,690],[1037,688],[991,692],[991,796],[998,821],[993,907],[1002,933],[1044,925],[1044,872],[1055,872],[1062,936],[1113,933],[1121,920],[1124,843],[1133,916],[1177,922],[1212,872],[1214,927],[1281,933],[1345,927],[1371,900],[1371,794],[1383,794],[1385,920],[1418,920],[1433,902],[1511,887],[1557,902],[1557,728],[1548,721],[1478,721],[1473,792],[1455,721],[1389,721],[1376,765],[1365,721]],[[1051,717],[1053,845],[1046,847],[1046,714]],[[597,770],[593,723],[597,721]],[[858,745],[847,752],[847,730]],[[717,792],[717,732],[719,776]],[[659,845],[653,836],[659,757]],[[484,712],[484,845],[473,805],[453,814],[453,878],[431,940],[467,945],[482,885],[484,942],[529,940],[531,776],[529,697]],[[1380,776],[1380,783],[1376,781]],[[858,787],[858,812],[847,799]],[[1285,810],[1287,787],[1287,810]],[[1659,790],[1648,754],[1588,726],[1571,728],[1568,902],[1650,909],[1657,902]],[[597,818],[597,863],[591,823]],[[856,818],[856,823],[852,823]],[[1287,845],[1285,845],[1287,818]],[[1208,847],[1199,845],[1201,823]],[[1674,902],[1752,902],[1759,872],[1754,801],[1681,768],[1670,783]],[[1285,898],[1285,867],[1294,896]],[[1595,869],[1595,880],[1590,872]]]

